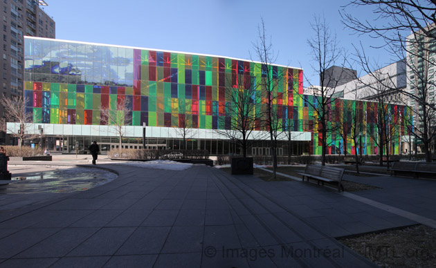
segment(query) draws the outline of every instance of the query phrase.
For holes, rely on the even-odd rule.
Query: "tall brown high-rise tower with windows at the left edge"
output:
[[[3,57],[0,61],[2,83],[1,96],[14,97],[23,94],[24,35],[55,38],[55,21],[41,6],[47,6],[43,0],[3,0]],[[3,106],[0,106],[3,117]],[[0,144],[5,144],[6,135],[0,132]]]

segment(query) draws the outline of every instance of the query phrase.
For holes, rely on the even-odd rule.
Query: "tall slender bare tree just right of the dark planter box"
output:
[[[253,50],[255,57],[262,64],[262,77],[260,87],[262,94],[266,97],[266,102],[262,103],[265,107],[264,128],[269,132],[270,149],[273,160],[273,177],[276,177],[277,171],[277,139],[282,129],[282,120],[279,119],[277,106],[274,105],[277,98],[278,78],[282,74],[273,74],[273,63],[277,59],[277,55],[273,51],[271,37],[266,34],[266,26],[264,20],[261,20],[260,26],[257,27],[257,41],[253,42]]]

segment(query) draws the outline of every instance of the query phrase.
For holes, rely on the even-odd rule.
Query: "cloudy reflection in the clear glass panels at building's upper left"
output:
[[[26,39],[25,53],[26,81],[133,86],[130,48]]]

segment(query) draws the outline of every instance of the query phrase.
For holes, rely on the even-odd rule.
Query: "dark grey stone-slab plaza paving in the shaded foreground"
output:
[[[0,214],[0,267],[376,267],[334,238],[416,223],[314,184],[98,166],[119,177]]]

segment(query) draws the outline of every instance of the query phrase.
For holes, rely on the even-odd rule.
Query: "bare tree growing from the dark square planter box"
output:
[[[217,133],[228,137],[242,149],[242,155],[246,157],[248,147],[253,144],[252,135],[255,129],[256,118],[260,117],[255,113],[255,106],[260,104],[261,97],[256,93],[254,78],[249,75],[236,75],[235,84],[228,81],[226,97],[230,101],[229,129],[218,129]]]

